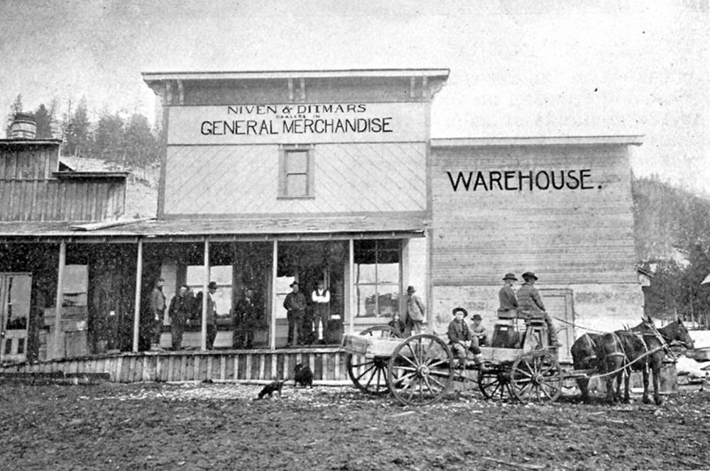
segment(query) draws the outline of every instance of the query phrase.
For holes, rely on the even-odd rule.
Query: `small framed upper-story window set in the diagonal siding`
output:
[[[313,146],[284,145],[278,160],[278,197],[313,198]]]

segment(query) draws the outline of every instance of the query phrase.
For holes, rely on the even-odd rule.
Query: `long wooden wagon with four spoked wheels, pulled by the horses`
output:
[[[476,380],[487,399],[557,400],[564,373],[557,350],[547,346],[545,324],[528,323],[524,338],[522,348],[481,347],[481,367],[467,362],[464,370],[454,369],[454,355],[444,338],[427,333],[401,338],[389,326],[347,335],[343,348],[348,374],[358,389],[373,395],[391,393],[403,404],[439,401],[455,380],[467,380],[470,370],[478,370]]]

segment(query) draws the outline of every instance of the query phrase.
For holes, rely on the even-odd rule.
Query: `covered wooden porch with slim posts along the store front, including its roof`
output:
[[[153,284],[160,277],[165,279],[163,293],[168,306],[182,284],[194,292],[207,292],[209,282],[217,283],[217,336],[213,350],[207,350],[204,306],[199,306],[194,322],[183,334],[180,349],[184,351],[146,352],[141,358],[158,355],[161,360],[155,360],[155,367],[160,364],[158,369],[163,371],[170,358],[175,364],[174,355],[178,354],[202,359],[200,353],[211,353],[224,361],[249,354],[244,362],[236,363],[245,369],[244,375],[230,376],[225,366],[227,380],[249,379],[246,371],[254,367],[246,367],[246,358],[253,359],[250,365],[252,361],[264,362],[261,373],[249,377],[268,377],[272,372],[285,372],[278,367],[282,362],[290,365],[273,359],[292,358],[288,356],[292,353],[274,356],[273,351],[293,351],[285,348],[288,322],[283,308],[293,281],[303,287],[307,299],[318,280],[324,280],[331,292],[324,341],[317,341],[307,309],[302,335],[307,345],[295,349],[295,354],[315,355],[313,352],[324,350],[333,355],[323,360],[331,365],[326,370],[332,371],[342,371],[342,362],[335,358],[344,333],[387,323],[391,314],[403,310],[403,287],[407,284],[415,284],[422,297],[427,296],[427,238],[419,214],[143,220],[78,226],[4,223],[0,230],[0,249],[13,254],[3,257],[0,275],[13,272],[26,277],[23,284],[14,285],[13,309],[3,304],[5,335],[0,362],[4,365],[39,361],[55,365],[45,366],[51,369],[62,368],[56,365],[65,365],[67,359],[77,359],[77,365],[94,365],[90,357],[114,358],[116,362],[125,357],[129,368],[142,367],[144,360],[133,364],[133,357],[126,353],[148,350],[146,313]],[[24,287],[22,300],[17,299],[20,286]],[[247,288],[254,292],[260,322],[253,349],[235,350],[234,305]],[[4,292],[9,293],[7,289]],[[160,335],[164,350],[172,346],[171,337],[166,307]],[[207,368],[198,361],[200,368]],[[274,361],[277,366],[272,367]],[[102,367],[107,365],[111,362],[104,361]],[[175,378],[185,377],[175,373],[175,366],[172,371]]]

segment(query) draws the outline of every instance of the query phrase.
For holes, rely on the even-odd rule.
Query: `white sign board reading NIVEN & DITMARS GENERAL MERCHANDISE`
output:
[[[168,144],[422,141],[427,112],[421,102],[171,106]]]

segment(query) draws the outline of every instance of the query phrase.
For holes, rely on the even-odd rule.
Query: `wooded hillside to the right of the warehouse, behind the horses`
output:
[[[636,255],[655,272],[645,289],[653,316],[710,321],[710,200],[663,183],[633,179]]]

